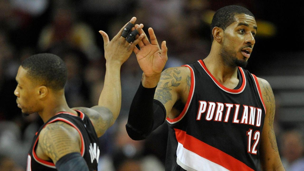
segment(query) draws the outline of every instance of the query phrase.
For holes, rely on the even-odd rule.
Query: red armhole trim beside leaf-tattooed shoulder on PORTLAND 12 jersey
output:
[[[191,73],[191,85],[190,85],[190,91],[189,91],[189,94],[188,94],[188,99],[187,99],[187,102],[185,104],[185,107],[183,109],[183,111],[181,112],[181,114],[178,115],[178,117],[174,118],[174,119],[170,119],[169,117],[167,117],[167,121],[171,124],[174,124],[175,122],[178,122],[184,115],[185,113],[187,112],[188,110],[188,107],[189,107],[189,104],[191,102],[191,99],[192,99],[192,95],[193,95],[193,92],[194,92],[194,82],[195,82],[195,78],[194,78],[194,72],[193,72],[193,69],[189,66],[189,65],[182,65],[182,66],[185,66],[185,67],[188,67],[190,69],[190,73]],[[172,123],[174,122],[174,123]]]

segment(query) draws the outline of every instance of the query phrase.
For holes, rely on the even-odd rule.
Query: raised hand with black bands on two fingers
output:
[[[130,23],[134,24],[136,21],[136,17],[133,17],[130,20]],[[128,23],[126,23],[127,25]],[[116,34],[115,37],[111,41],[109,41],[109,36],[104,31],[99,31],[99,33],[102,35],[103,41],[104,41],[104,48],[105,48],[105,59],[108,62],[117,63],[119,65],[122,65],[131,55],[133,48],[136,44],[138,44],[142,38],[144,37],[144,34],[140,34],[136,38],[136,40],[133,41],[132,44],[126,41],[126,38],[121,37],[121,33],[123,32],[124,28],[123,26],[121,30]],[[136,30],[138,32],[141,31],[143,28],[143,24],[140,24],[137,26]]]

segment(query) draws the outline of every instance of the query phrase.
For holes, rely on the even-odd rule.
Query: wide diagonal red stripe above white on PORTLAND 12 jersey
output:
[[[197,155],[208,159],[211,162],[219,164],[228,170],[243,170],[254,171],[245,163],[235,159],[234,157],[214,148],[191,135],[186,134],[185,131],[174,128],[176,139],[187,150],[196,153]]]

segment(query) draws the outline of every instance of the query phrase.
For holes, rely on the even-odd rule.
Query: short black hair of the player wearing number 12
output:
[[[234,16],[236,14],[247,14],[254,18],[254,15],[246,8],[238,5],[229,5],[217,10],[212,18],[210,30],[211,40],[213,41],[212,29],[219,27],[225,30],[230,24],[235,22]]]

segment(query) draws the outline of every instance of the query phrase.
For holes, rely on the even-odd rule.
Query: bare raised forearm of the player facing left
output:
[[[121,106],[120,67],[119,63],[107,61],[105,81],[98,100],[98,106],[104,106],[112,112],[114,121]]]

